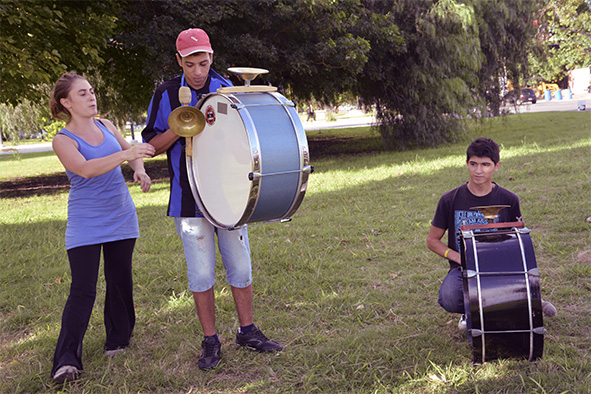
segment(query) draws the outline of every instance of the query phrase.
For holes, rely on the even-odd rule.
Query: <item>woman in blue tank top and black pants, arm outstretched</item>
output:
[[[70,180],[66,251],[72,273],[70,294],[51,376],[62,383],[82,370],[82,341],[96,298],[101,250],[104,257],[105,351],[114,355],[129,345],[135,324],[131,261],[139,237],[135,205],[121,173],[128,162],[142,191],[150,189],[143,159],[149,144],[133,147],[108,120],[96,120],[92,86],[74,73],[62,75],[50,99],[51,113],[67,124],[53,139],[53,150]]]

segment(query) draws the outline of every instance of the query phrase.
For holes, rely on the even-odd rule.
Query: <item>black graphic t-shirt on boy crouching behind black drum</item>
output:
[[[431,224],[447,231],[447,246],[456,252],[460,251],[460,226],[464,224],[485,224],[488,221],[472,207],[487,205],[509,205],[499,212],[495,222],[521,221],[519,196],[493,182],[493,189],[486,196],[475,196],[468,189],[468,183],[444,193],[437,203],[435,217]],[[457,264],[450,261],[450,267]]]

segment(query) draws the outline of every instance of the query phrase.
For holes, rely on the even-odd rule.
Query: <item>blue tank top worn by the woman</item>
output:
[[[121,151],[117,138],[102,123],[103,142],[91,145],[67,129],[60,130],[78,143],[86,160],[105,157]],[[85,245],[102,244],[139,237],[135,205],[121,172],[116,167],[106,174],[85,179],[66,170],[70,180],[66,250]]]

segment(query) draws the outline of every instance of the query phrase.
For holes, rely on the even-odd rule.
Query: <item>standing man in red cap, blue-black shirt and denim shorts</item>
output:
[[[232,86],[211,67],[213,50],[207,33],[201,29],[182,31],[176,41],[176,58],[183,74],[160,85],[148,108],[148,123],[142,137],[156,148],[156,155],[166,152],[170,176],[168,216],[174,217],[177,233],[183,241],[189,289],[204,339],[197,365],[201,369],[214,368],[220,361],[221,343],[215,329],[215,237],[226,269],[226,281],[232,289],[240,328],[236,346],[259,352],[282,350],[282,346],[268,339],[253,323],[252,268],[246,228],[225,230],[215,228],[199,211],[187,176],[185,138],[179,138],[168,126],[168,116],[177,107],[179,89],[191,89],[191,106],[218,88]]]

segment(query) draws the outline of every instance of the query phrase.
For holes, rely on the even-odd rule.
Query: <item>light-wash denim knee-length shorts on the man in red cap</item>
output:
[[[250,246],[246,227],[226,230],[213,226],[205,218],[174,218],[176,231],[183,242],[189,289],[203,292],[215,283],[215,236],[222,263],[226,269],[226,282],[230,286],[245,288],[252,283]]]

